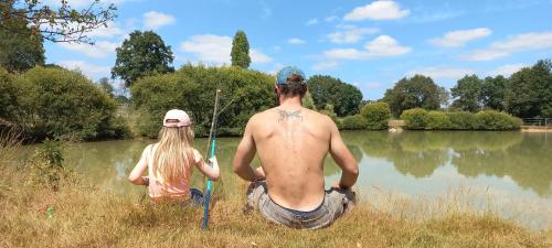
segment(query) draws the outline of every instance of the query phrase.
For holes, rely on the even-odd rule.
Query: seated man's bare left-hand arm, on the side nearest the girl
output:
[[[253,122],[254,117],[250,119],[245,127],[243,139],[237,145],[236,154],[234,157],[234,172],[245,181],[255,181],[265,179],[263,170],[254,170],[250,164],[255,158],[255,140],[253,140]]]

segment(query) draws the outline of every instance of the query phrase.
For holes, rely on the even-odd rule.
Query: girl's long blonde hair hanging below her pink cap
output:
[[[167,128],[159,131],[159,142],[153,154],[153,174],[163,184],[189,180],[195,163],[192,148],[193,127]]]

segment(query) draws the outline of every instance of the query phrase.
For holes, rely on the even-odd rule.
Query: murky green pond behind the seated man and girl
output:
[[[359,161],[357,185],[363,198],[370,200],[374,192],[435,198],[463,187],[473,193],[461,197],[473,197],[476,203],[484,201],[482,207],[488,207],[490,198],[493,209],[506,217],[539,228],[552,223],[552,133],[351,131],[342,137]],[[243,193],[231,164],[238,141],[238,138],[217,140],[223,183],[214,187],[224,194]],[[66,164],[106,191],[144,194],[145,188],[130,185],[126,176],[150,142],[68,144]],[[205,150],[205,139],[195,140],[200,151]],[[202,176],[198,172],[194,175],[192,185],[203,188]],[[328,157],[326,184],[336,182],[339,175],[339,168]]]

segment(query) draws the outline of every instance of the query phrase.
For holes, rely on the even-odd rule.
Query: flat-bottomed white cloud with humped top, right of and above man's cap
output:
[[[333,60],[370,60],[376,57],[399,56],[412,51],[408,46],[402,46],[396,40],[388,35],[380,35],[367,43],[365,51],[355,48],[335,48],[323,52],[323,55]]]

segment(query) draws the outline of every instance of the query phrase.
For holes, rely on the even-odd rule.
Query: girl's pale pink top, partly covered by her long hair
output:
[[[149,149],[148,149],[149,148]],[[148,161],[148,176],[149,176],[149,196],[151,198],[170,197],[170,198],[188,198],[190,197],[190,182],[185,179],[190,179],[192,175],[192,170],[189,170],[185,179],[182,179],[178,184],[167,184],[161,183],[161,181],[153,173],[153,149],[157,149],[156,144],[150,144],[146,148],[147,161]],[[193,149],[195,163],[201,161],[201,154],[198,150]],[[191,169],[191,168],[190,168]]]

